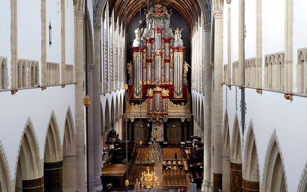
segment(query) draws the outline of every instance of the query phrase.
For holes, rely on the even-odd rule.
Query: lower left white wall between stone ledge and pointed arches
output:
[[[15,95],[10,91],[1,92],[0,100],[0,141],[6,151],[10,174],[14,178],[17,152],[22,133],[28,117],[33,123],[36,139],[40,150],[40,158],[44,159],[45,138],[52,110],[59,128],[61,145],[64,139],[65,118],[68,107],[72,121],[75,121],[75,85],[21,89]]]

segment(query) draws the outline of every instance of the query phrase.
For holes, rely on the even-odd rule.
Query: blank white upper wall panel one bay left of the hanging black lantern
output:
[[[41,1],[17,1],[17,58],[41,60]]]

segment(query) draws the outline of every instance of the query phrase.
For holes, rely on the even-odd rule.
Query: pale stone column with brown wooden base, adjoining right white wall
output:
[[[214,101],[213,120],[213,191],[222,188],[222,119],[223,119],[223,86],[221,86],[222,68],[222,16],[223,10],[214,10]]]

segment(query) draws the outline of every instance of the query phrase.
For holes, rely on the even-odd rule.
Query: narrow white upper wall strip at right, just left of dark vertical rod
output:
[[[239,60],[239,0],[232,0],[231,1],[231,65],[232,62],[238,60]]]

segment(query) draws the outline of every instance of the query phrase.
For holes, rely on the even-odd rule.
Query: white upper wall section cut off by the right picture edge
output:
[[[307,1],[294,1],[294,23],[293,23],[293,92],[297,92],[296,88],[296,65],[297,65],[297,49],[307,47],[307,25],[305,18],[307,16],[305,7]]]

